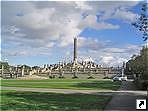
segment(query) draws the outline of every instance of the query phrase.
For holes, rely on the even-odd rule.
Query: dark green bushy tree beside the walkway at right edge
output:
[[[143,47],[140,55],[133,56],[126,63],[126,73],[134,75],[136,85],[139,88],[148,87],[148,48]]]

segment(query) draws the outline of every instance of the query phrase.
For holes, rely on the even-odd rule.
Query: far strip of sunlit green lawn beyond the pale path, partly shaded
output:
[[[117,90],[120,84],[119,82],[112,82],[108,79],[1,80],[1,86],[79,90]]]

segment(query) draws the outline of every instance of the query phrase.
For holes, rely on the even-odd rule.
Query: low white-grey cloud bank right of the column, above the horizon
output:
[[[80,50],[80,58],[91,57],[99,64],[105,66],[121,65],[123,61],[127,61],[133,54],[138,54],[141,46],[126,45],[123,48],[106,46],[104,48],[97,48],[96,50]]]

